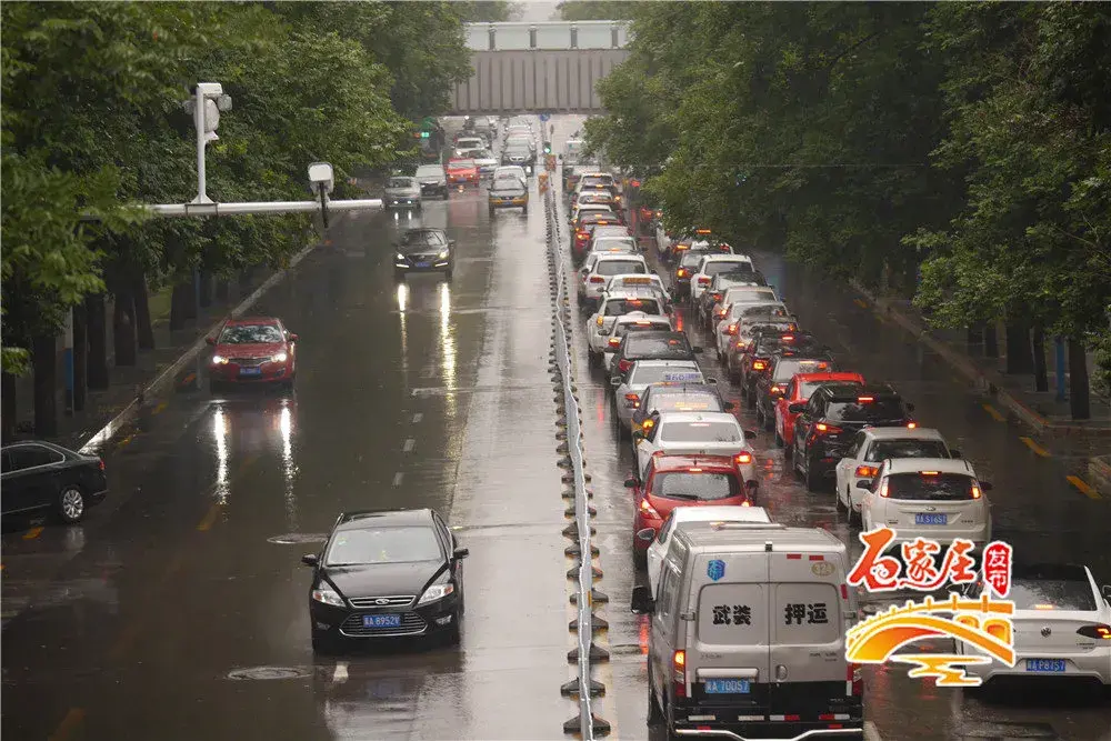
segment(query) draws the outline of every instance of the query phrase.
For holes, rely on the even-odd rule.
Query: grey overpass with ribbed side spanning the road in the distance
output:
[[[467,23],[473,74],[449,116],[601,113],[594,84],[629,52],[624,21]]]

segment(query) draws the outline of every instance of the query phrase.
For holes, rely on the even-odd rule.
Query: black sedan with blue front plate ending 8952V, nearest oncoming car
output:
[[[301,557],[312,567],[312,650],[437,634],[458,643],[468,553],[432,510],[344,512],[323,550]]]

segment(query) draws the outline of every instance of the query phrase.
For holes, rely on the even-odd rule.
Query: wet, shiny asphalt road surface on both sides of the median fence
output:
[[[556,127],[558,150],[577,122]],[[543,211],[537,199],[528,216],[491,218],[483,196],[429,201],[412,221],[340,221],[333,249],[258,306],[301,338],[294,395],[179,393],[129,442],[113,441],[111,499],[83,525],[4,533],[4,738],[563,738],[575,712],[559,695],[573,672],[573,615]],[[390,242],[410,223],[457,240],[450,284],[392,282]],[[1111,502],[1065,481],[1068,444],[1043,441],[1052,457],[1035,455],[852,294],[774,256],[758,261],[842,363],[894,383],[995,484],[998,538],[1111,581]],[[574,330],[598,585],[611,598],[599,610],[611,660],[595,670],[607,688],[597,713],[613,738],[662,738],[644,724],[647,623],[628,611],[630,453]],[[705,364],[728,389],[709,354]],[[757,449],[773,519],[825,527],[858,552],[832,494],[808,493],[769,435]],[[437,508],[470,549],[462,645],[314,659],[300,555],[338,512],[390,507]],[[867,685],[865,713],[884,739],[1111,739],[1107,695],[965,699],[899,668],[869,672]]]

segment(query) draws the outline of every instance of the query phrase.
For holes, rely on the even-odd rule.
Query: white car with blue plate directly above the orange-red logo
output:
[[[965,460],[945,458],[888,459],[864,490],[860,502],[864,531],[887,525],[895,541],[915,538],[950,541],[964,538],[981,547],[991,541],[991,484],[977,479]]]

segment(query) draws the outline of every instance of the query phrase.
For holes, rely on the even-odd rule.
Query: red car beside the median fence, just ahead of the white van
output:
[[[677,507],[751,507],[757,482],[744,481],[732,455],[658,453],[649,461],[644,480],[628,479],[625,487],[633,490],[633,553],[642,562],[651,542],[637,538],[638,532],[644,528],[659,532]]]

